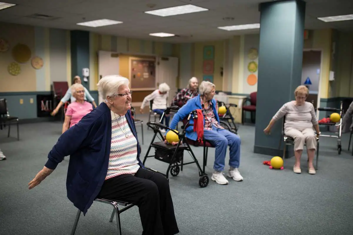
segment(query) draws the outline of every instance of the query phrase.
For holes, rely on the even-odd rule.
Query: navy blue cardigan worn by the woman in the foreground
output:
[[[137,139],[131,112],[128,111],[125,117]],[[84,215],[100,192],[107,175],[111,138],[110,109],[101,103],[65,131],[48,154],[45,166],[49,169],[55,169],[65,156],[70,155],[66,179],[67,197]],[[137,143],[137,159],[143,167],[139,156],[140,146]]]

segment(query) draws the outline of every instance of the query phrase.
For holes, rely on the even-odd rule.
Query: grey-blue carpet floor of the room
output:
[[[146,120],[146,116],[139,118]],[[7,160],[0,161],[0,234],[70,234],[77,209],[66,197],[68,157],[40,185],[28,190],[28,182],[42,169],[48,151],[58,140],[61,125],[22,124],[20,141],[15,138],[15,126],[10,138],[7,129],[0,131],[0,148],[7,156]],[[141,138],[139,126],[137,130]],[[152,133],[144,124],[142,157]],[[309,175],[306,153],[302,174],[292,171],[294,157],[286,160],[282,171],[263,165],[271,156],[253,153],[254,133],[254,126],[239,128],[243,182],[230,180],[229,185],[218,185],[210,181],[208,187],[200,188],[195,164],[184,166],[177,177],[170,176],[179,234],[352,235],[353,156],[347,151],[349,135],[342,136],[341,155],[336,140],[323,137],[319,169],[316,175]],[[193,151],[201,162],[202,148]],[[187,152],[184,156],[191,159]],[[213,161],[214,151],[210,149],[206,168],[209,175]],[[161,172],[167,169],[167,163],[154,158],[145,165]],[[81,216],[76,234],[116,234],[115,220],[109,223],[111,212],[110,205],[95,202],[86,216]],[[124,235],[142,233],[137,207],[121,214],[121,227]]]

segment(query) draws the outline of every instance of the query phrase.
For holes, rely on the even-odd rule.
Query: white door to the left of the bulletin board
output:
[[[119,75],[119,54],[110,51],[98,52],[98,76],[99,79],[107,75]],[[103,97],[98,92],[99,104],[103,102]]]

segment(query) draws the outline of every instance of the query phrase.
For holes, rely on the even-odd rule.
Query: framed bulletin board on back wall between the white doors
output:
[[[152,58],[129,58],[131,89],[155,89],[156,61]]]

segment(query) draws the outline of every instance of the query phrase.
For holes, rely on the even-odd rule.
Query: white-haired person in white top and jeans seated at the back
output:
[[[158,113],[159,115],[162,115],[164,110],[167,109],[167,99],[169,96],[169,91],[170,87],[168,86],[168,84],[166,84],[165,82],[160,84],[157,90],[147,95],[143,99],[140,112],[143,113],[143,108],[146,106],[146,103],[153,100],[152,111]],[[164,116],[161,123],[163,124],[163,120],[165,120],[165,125],[169,126],[169,119],[169,116]],[[162,129],[161,131],[166,132],[166,130],[164,129]]]

